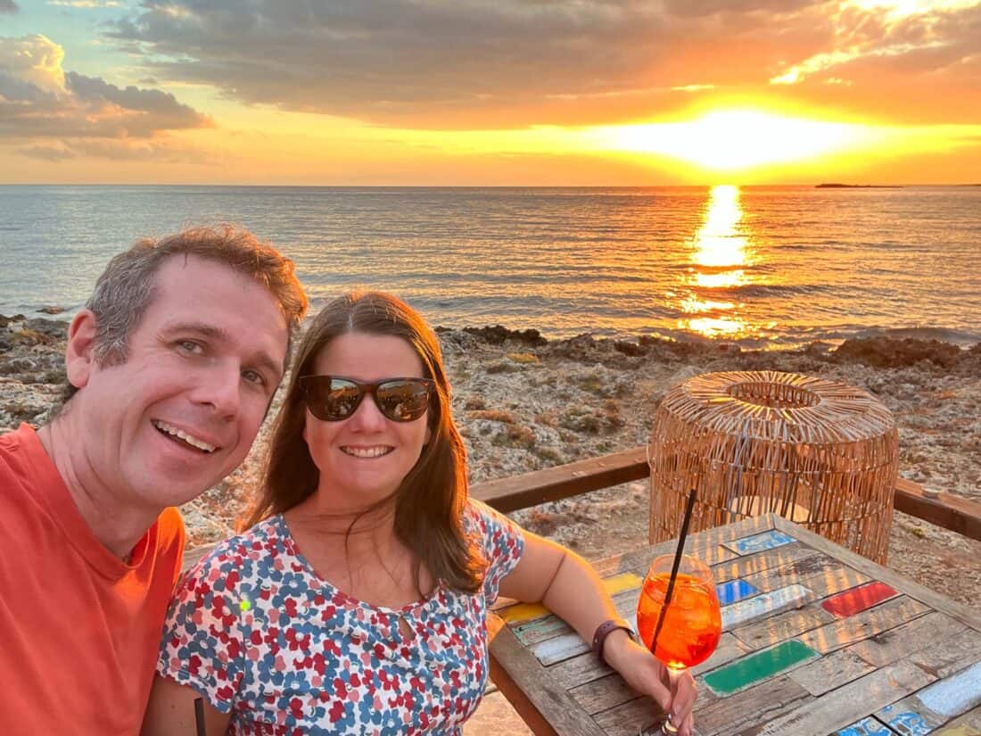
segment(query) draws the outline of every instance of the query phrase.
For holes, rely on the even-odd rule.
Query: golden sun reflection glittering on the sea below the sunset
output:
[[[679,320],[679,328],[706,338],[740,338],[754,332],[738,316],[740,305],[705,294],[706,289],[734,289],[751,283],[749,241],[741,227],[743,208],[738,186],[713,186],[708,195],[704,222],[693,238],[692,266],[683,277],[685,314],[700,315]]]

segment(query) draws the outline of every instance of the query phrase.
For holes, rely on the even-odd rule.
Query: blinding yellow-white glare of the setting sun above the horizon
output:
[[[604,134],[619,150],[672,156],[719,171],[815,158],[867,137],[862,126],[752,110],[712,112],[685,123],[610,128]]]

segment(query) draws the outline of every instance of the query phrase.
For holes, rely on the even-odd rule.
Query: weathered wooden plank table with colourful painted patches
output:
[[[649,561],[675,545],[595,563],[628,620]],[[712,565],[723,605],[719,647],[694,670],[700,736],[981,736],[981,616],[967,606],[774,514],[693,535],[686,552]],[[491,677],[536,734],[634,736],[658,714],[547,609],[496,613]]]

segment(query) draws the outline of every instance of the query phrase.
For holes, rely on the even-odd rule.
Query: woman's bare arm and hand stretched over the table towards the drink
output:
[[[541,602],[572,626],[586,642],[608,618],[619,618],[599,576],[581,556],[524,531],[521,561],[502,580],[500,594],[526,603]],[[674,693],[667,668],[622,629],[613,631],[603,646],[603,658],[632,688],[653,698],[671,721],[680,724],[680,736],[691,736],[695,680],[685,672],[675,678]]]

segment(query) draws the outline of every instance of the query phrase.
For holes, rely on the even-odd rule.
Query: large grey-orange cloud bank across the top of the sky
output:
[[[977,99],[963,64],[976,6],[916,18],[848,0],[143,0],[108,31],[145,74],[209,84],[232,100],[394,126],[497,128],[649,118],[698,95],[819,97],[875,90],[852,61],[900,86],[906,64]],[[923,65],[923,66],[920,66]],[[813,80],[814,88],[801,82]],[[786,87],[787,85],[783,85]],[[922,101],[908,90],[902,100]],[[605,107],[594,103],[603,99]],[[900,104],[902,106],[902,104]],[[953,105],[946,106],[949,110]],[[978,111],[981,102],[971,109]],[[972,113],[973,114],[973,113]]]

